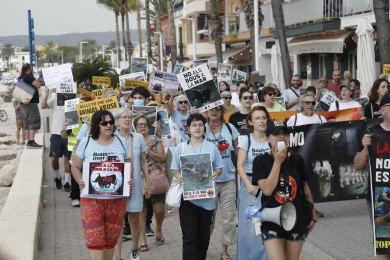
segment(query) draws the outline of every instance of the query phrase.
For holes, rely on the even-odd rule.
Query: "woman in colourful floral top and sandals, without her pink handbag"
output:
[[[145,114],[139,114],[134,118],[134,127],[135,131],[137,133],[140,133],[144,136],[145,143],[147,150],[145,152],[146,154],[146,160],[149,165],[149,170],[153,169],[153,167],[156,167],[156,164],[153,163],[160,163],[163,164],[166,161],[166,155],[164,153],[164,147],[162,146],[161,139],[158,138],[155,135],[149,135],[149,128],[150,128],[150,119]],[[153,193],[153,191],[152,191]],[[145,193],[146,195],[146,193]],[[148,250],[148,244],[146,243],[146,236],[145,236],[145,230],[146,230],[146,211],[149,201],[153,205],[153,212],[154,217],[156,219],[156,244],[162,245],[165,240],[162,236],[162,222],[164,221],[165,217],[165,192],[162,194],[153,194],[150,196],[150,198],[144,198],[144,207],[141,212],[141,244],[138,246],[138,250],[140,251],[147,251]]]

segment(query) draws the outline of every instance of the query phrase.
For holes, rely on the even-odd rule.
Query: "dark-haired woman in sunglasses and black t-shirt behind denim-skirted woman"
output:
[[[229,123],[235,128],[246,128],[246,117],[253,105],[253,94],[247,89],[241,89],[238,96],[242,110],[235,112],[229,118]]]

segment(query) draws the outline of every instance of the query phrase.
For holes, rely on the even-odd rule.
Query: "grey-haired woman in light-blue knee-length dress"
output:
[[[127,148],[131,154],[131,163],[133,164],[134,187],[131,196],[126,199],[126,212],[129,219],[132,237],[131,259],[138,259],[138,241],[140,240],[140,213],[143,210],[144,195],[141,178],[141,168],[146,180],[145,198],[150,197],[149,168],[146,160],[146,144],[144,137],[140,133],[130,132],[132,113],[130,108],[120,108],[115,115],[119,129],[116,132],[118,136],[126,139]],[[116,257],[121,257],[122,236],[118,239],[118,248],[116,247]]]

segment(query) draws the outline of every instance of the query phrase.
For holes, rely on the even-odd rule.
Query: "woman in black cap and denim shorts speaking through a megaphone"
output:
[[[302,156],[287,152],[290,131],[283,121],[269,123],[265,135],[271,151],[254,159],[253,169],[257,170],[252,176],[252,184],[259,185],[263,192],[263,244],[270,260],[298,260],[303,242],[317,222],[308,172]],[[275,211],[280,206],[280,212]]]

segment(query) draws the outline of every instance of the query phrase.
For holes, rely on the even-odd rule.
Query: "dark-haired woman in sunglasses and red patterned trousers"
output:
[[[92,115],[91,136],[80,141],[72,164],[72,175],[80,189],[89,185],[82,180],[81,169],[84,161],[131,162],[126,140],[114,134],[114,124],[114,116],[107,110],[99,110]],[[131,175],[132,172],[133,169]],[[133,186],[134,180],[131,179],[127,185]],[[84,194],[80,197],[82,229],[89,259],[112,259],[114,247],[122,235],[126,198],[117,195]]]

